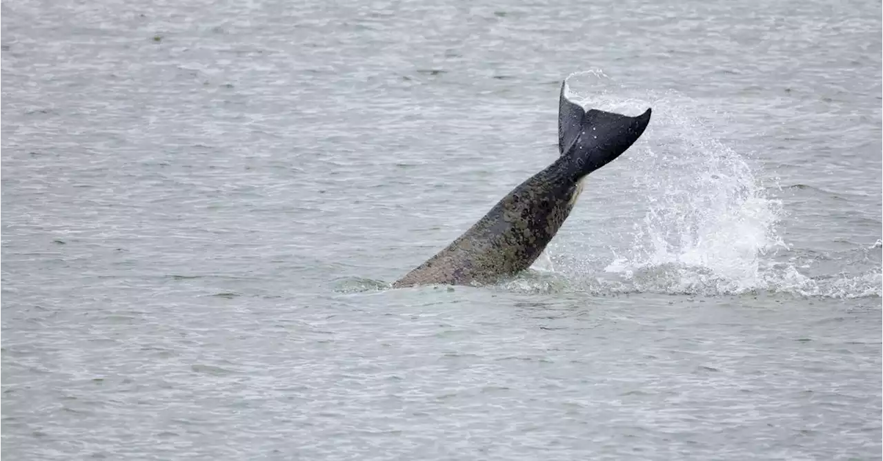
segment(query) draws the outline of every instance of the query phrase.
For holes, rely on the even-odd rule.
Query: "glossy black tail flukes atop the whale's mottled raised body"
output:
[[[597,109],[586,112],[566,93],[565,79],[558,103],[558,149],[562,156],[577,161],[579,176],[615,160],[641,137],[650,123],[650,108],[634,117]]]

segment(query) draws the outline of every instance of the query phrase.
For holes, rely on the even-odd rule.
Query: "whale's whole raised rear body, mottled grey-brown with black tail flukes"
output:
[[[561,87],[558,146],[561,156],[519,184],[457,240],[393,284],[394,287],[474,285],[524,271],[536,261],[567,219],[580,181],[625,152],[650,123],[637,117],[589,110]]]

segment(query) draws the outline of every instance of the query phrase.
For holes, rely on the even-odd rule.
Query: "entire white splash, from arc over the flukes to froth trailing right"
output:
[[[588,85],[577,84],[584,78]],[[592,94],[581,97],[575,87]],[[567,94],[585,107],[628,115],[653,107],[653,130],[618,160],[630,162],[634,205],[643,216],[631,229],[630,244],[612,246],[613,260],[601,273],[593,271],[592,291],[883,295],[879,271],[811,278],[775,260],[777,252],[790,251],[777,232],[782,204],[768,197],[750,160],[722,144],[696,116],[708,110],[698,102],[675,93],[657,98],[630,91],[600,71],[574,74]],[[538,266],[552,270],[551,264]]]

